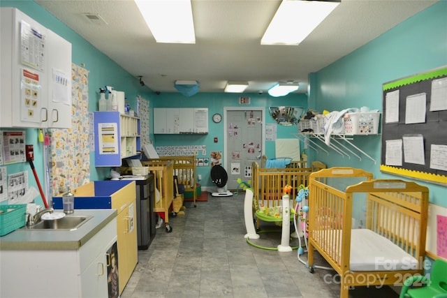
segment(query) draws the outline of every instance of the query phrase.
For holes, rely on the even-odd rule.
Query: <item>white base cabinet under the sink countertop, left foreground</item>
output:
[[[116,241],[113,218],[78,249],[1,251],[1,267],[8,268],[1,297],[108,297],[107,253]]]

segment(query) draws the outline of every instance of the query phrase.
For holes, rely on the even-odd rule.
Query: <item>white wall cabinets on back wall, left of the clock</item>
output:
[[[208,133],[206,107],[156,107],[154,108],[154,134]]]

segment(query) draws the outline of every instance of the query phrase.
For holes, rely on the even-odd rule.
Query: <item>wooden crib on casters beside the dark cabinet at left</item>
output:
[[[166,232],[171,232],[169,212],[174,199],[174,162],[142,161],[141,163],[149,167],[149,173],[154,174],[154,212],[165,221]]]

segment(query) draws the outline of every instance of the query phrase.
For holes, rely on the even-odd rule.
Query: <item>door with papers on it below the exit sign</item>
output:
[[[265,133],[263,107],[226,107],[223,124],[225,138],[223,158],[228,174],[227,188],[237,189],[237,179],[251,180],[251,163],[261,163]]]

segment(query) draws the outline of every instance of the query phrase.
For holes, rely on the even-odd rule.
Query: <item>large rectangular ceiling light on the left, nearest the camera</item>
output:
[[[157,43],[196,43],[190,0],[134,0]]]

